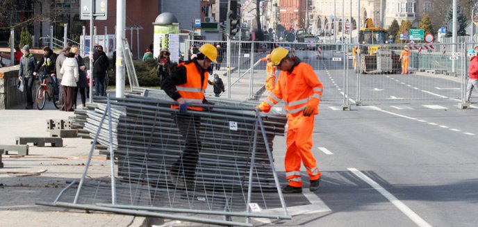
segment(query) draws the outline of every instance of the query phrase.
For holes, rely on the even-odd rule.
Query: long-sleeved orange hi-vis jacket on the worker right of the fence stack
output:
[[[282,99],[286,103],[288,117],[298,116],[307,105],[314,106],[313,114],[318,115],[323,88],[311,65],[300,62],[292,73],[281,71],[277,85],[259,108],[268,112]]]

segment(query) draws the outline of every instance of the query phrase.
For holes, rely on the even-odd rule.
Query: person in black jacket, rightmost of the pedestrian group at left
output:
[[[97,47],[97,51],[94,53],[93,56],[93,76],[94,76],[94,95],[98,96],[105,96],[105,78],[107,76],[106,70],[110,66],[110,60],[108,60],[108,56],[103,51],[103,47],[99,45]]]

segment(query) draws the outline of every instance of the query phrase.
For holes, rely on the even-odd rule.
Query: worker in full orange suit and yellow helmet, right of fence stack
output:
[[[301,62],[287,49],[279,47],[271,53],[271,61],[281,73],[274,90],[257,108],[269,112],[281,99],[287,110],[286,178],[283,193],[301,193],[301,162],[307,169],[314,192],[319,188],[320,171],[311,152],[314,115],[319,114],[319,103],[323,85],[311,65]]]

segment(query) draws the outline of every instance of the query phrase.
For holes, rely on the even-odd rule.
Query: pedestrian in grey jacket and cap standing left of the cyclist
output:
[[[22,48],[23,56],[20,58],[20,68],[18,78],[24,81],[26,86],[26,109],[33,109],[33,81],[35,81],[37,60],[33,53],[30,53],[30,47],[25,45]]]

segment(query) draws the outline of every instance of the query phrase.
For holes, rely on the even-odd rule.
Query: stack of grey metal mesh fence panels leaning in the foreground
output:
[[[114,105],[97,99],[108,105],[88,117],[101,138],[94,142],[108,142],[110,158],[117,158],[113,177],[88,180],[87,165],[79,184],[43,205],[233,226],[251,226],[250,217],[290,219],[271,150],[285,116],[263,118],[247,102],[181,114],[161,91],[141,93],[112,99]]]

